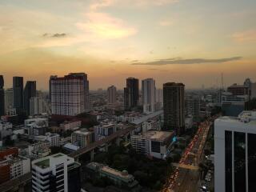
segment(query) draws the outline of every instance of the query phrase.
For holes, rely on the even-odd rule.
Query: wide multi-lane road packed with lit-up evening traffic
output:
[[[217,118],[217,117],[214,117]],[[198,164],[201,162],[206,139],[214,118],[202,122],[197,133],[177,164],[174,173],[167,179],[162,192],[197,192],[199,186]]]

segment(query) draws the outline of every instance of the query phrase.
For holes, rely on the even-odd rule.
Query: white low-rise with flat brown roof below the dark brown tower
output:
[[[174,143],[174,132],[148,130],[131,136],[131,146],[137,153],[165,159]]]

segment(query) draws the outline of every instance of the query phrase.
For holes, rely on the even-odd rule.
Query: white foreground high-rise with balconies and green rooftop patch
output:
[[[78,192],[80,164],[66,154],[53,154],[32,163],[32,191]]]

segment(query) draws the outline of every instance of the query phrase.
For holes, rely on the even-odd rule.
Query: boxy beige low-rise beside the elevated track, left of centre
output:
[[[85,147],[94,142],[94,133],[86,129],[76,130],[71,134],[71,142],[76,146]]]

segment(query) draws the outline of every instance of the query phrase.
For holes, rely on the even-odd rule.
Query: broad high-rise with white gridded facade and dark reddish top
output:
[[[87,74],[71,73],[63,78],[50,77],[52,114],[77,115],[90,109]]]

